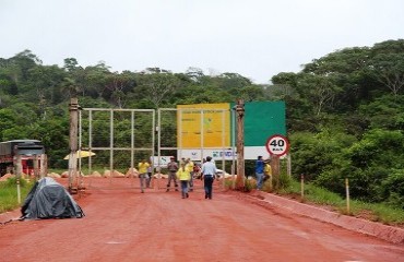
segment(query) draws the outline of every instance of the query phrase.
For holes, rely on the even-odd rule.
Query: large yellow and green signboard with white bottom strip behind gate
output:
[[[237,138],[234,103],[177,106],[178,156],[194,160],[212,156],[226,160],[235,157],[233,143]],[[187,110],[186,110],[187,109]],[[195,110],[188,110],[195,109]],[[203,112],[202,110],[203,109]],[[224,111],[221,111],[223,110]],[[203,134],[203,135],[201,135]],[[270,155],[268,138],[286,135],[284,102],[250,102],[245,104],[245,159]],[[235,135],[235,138],[231,138]]]

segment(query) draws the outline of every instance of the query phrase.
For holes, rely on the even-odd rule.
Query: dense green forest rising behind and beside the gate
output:
[[[336,50],[271,82],[198,68],[111,72],[104,62],[83,68],[75,58],[45,66],[24,50],[0,58],[0,140],[41,140],[50,166],[64,167],[71,96],[93,108],[284,100],[294,177],[305,174],[341,194],[349,178],[354,198],[404,209],[403,39]]]

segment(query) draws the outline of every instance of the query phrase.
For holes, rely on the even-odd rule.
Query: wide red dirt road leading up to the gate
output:
[[[0,261],[404,261],[403,245],[217,189],[90,189],[78,203],[84,218],[0,226]]]

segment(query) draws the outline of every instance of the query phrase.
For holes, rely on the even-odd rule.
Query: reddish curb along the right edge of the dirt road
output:
[[[373,236],[389,242],[404,245],[404,229],[402,228],[343,215],[271,193],[256,192],[250,195],[246,194],[246,196],[261,202],[261,204],[270,204],[313,219],[331,223],[353,231]]]

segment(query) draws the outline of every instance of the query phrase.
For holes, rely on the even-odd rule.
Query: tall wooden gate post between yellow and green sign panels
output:
[[[245,189],[245,103],[237,100],[237,189]]]

